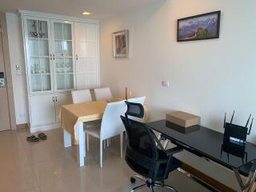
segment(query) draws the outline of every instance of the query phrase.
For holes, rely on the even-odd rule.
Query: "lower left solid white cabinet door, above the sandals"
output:
[[[52,94],[30,97],[31,126],[42,126],[55,122],[55,97]]]

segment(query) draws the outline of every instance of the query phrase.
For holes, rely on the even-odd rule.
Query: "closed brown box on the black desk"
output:
[[[201,118],[194,114],[188,114],[183,111],[174,111],[166,114],[166,121],[177,124],[182,127],[190,127],[200,124]]]

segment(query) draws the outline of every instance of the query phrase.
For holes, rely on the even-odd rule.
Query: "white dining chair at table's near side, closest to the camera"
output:
[[[122,138],[124,126],[122,125],[122,120],[120,115],[125,114],[126,103],[121,102],[110,102],[106,106],[106,110],[102,117],[101,126],[91,126],[84,130],[84,133],[91,135],[94,138],[99,138],[100,142],[100,167],[102,167],[102,142],[108,138],[112,138],[116,135],[120,135],[120,153],[122,157]]]

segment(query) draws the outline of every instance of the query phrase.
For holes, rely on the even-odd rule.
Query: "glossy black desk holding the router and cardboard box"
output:
[[[174,144],[182,146],[191,153],[204,156],[214,162],[218,162],[222,166],[234,170],[241,190],[250,191],[256,177],[256,145],[250,142],[246,143],[245,151],[247,153],[247,159],[237,157],[233,154],[230,154],[228,158],[228,154],[222,152],[223,134],[215,130],[210,130],[203,126],[193,126],[194,132],[182,134],[177,131],[182,130],[182,127],[170,122],[166,126],[166,120],[149,122],[147,125],[151,129],[158,131],[163,137],[174,142]],[[245,166],[250,166],[250,179],[248,182],[243,183],[239,170]]]

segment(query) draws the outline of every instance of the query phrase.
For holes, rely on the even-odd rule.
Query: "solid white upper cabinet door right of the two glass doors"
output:
[[[98,25],[74,23],[77,88],[98,86]]]

